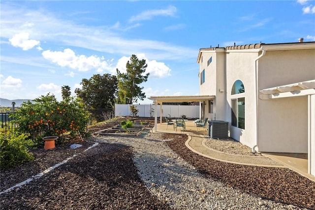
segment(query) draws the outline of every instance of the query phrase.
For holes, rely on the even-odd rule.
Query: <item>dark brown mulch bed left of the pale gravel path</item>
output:
[[[51,174],[1,195],[1,209],[165,210],[142,183],[132,148],[100,143]]]

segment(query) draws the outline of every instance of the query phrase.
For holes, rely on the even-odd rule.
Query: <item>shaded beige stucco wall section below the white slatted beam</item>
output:
[[[300,96],[260,102],[259,151],[307,153],[307,101],[307,96]]]

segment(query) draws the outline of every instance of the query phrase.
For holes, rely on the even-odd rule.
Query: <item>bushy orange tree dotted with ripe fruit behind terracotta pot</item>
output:
[[[58,102],[54,95],[47,94],[34,102],[23,103],[12,116],[18,125],[17,131],[30,134],[35,144],[42,142],[45,136],[88,134],[86,126],[90,113],[80,99],[67,98]]]

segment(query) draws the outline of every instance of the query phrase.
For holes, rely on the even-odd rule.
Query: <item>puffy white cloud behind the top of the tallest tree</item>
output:
[[[145,57],[145,55],[142,54],[137,54],[136,55],[139,60],[146,60],[146,64],[148,65],[146,72],[145,73],[150,73],[149,78],[163,78],[166,76],[171,75],[171,69],[168,68],[164,63],[158,62],[156,60],[149,60]],[[123,56],[118,60],[118,63],[115,68],[118,69],[120,72],[125,73],[126,72],[126,63],[129,61],[130,57]],[[114,70],[112,70],[114,73]]]

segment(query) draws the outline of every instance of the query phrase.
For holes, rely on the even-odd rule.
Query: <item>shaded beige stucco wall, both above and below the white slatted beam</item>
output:
[[[315,50],[267,51],[258,61],[258,90],[315,79]],[[258,148],[308,152],[307,96],[258,100]]]

